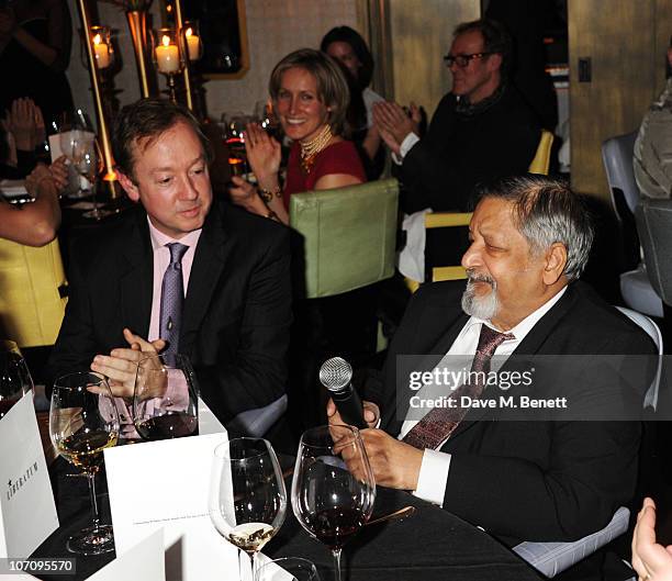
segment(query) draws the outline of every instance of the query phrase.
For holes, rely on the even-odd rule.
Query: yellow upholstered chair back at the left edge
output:
[[[0,239],[0,328],[20,347],[53,345],[67,286],[58,239],[34,248]]]

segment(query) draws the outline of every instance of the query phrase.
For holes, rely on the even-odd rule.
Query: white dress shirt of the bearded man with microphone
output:
[[[507,333],[511,333],[515,338],[503,342],[494,351],[494,355],[497,356],[496,362],[493,361],[493,370],[495,367],[501,367],[506,358],[516,350],[520,342],[525,338],[525,336],[531,331],[531,328],[539,322],[539,320],[560,300],[560,298],[567,291],[567,287],[564,287],[560,292],[558,292],[552,299],[544,303],[539,309],[537,309],[534,313],[527,315],[523,321],[520,321],[515,327],[509,329]],[[475,355],[475,350],[479,344],[479,337],[481,335],[481,325],[488,325],[491,328],[494,326],[489,321],[483,321],[482,319],[477,319],[474,316],[470,317],[467,321],[467,324],[460,331],[460,334],[457,336],[448,353],[444,356],[441,361],[436,366],[437,368],[450,369],[450,359],[451,356],[455,359],[455,356],[473,356]],[[497,331],[497,329],[495,329]],[[428,392],[433,389],[436,389],[434,386],[426,386],[422,388],[417,394],[423,398],[423,392]],[[430,410],[427,409],[427,413]],[[408,420],[408,416],[412,416],[414,420]],[[406,414],[406,420],[402,424],[401,432],[399,434],[399,439],[403,439],[404,436],[417,424],[418,422],[417,410],[410,410]],[[448,439],[448,438],[446,438]],[[423,455],[423,462],[421,465],[421,471],[417,479],[417,489],[414,491],[414,494],[423,500],[432,502],[434,504],[438,504],[441,506],[444,504],[444,495],[446,493],[446,484],[448,483],[448,477],[450,472],[450,459],[451,455],[448,452],[438,451],[440,447],[446,443],[446,440],[441,442],[437,449],[425,449]]]

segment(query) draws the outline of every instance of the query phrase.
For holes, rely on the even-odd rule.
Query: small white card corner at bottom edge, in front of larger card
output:
[[[89,577],[87,581],[119,581],[120,579],[166,581],[163,528],[155,530],[135,547],[116,557]]]

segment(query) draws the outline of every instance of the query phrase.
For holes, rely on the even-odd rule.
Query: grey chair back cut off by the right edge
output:
[[[635,220],[649,281],[662,301],[672,305],[672,201],[642,198]]]

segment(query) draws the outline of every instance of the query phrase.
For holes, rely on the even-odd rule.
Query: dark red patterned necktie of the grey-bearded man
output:
[[[461,407],[459,402],[462,395],[469,395],[471,399],[478,399],[483,393],[483,383],[479,379],[486,377],[490,371],[490,360],[495,349],[507,339],[514,339],[511,333],[499,333],[490,328],[488,325],[481,325],[481,336],[473,362],[471,364],[472,376],[475,373],[477,381],[472,383],[463,383],[456,389],[448,400],[456,401],[456,407],[434,407],[426,414],[408,433],[404,436],[403,442],[411,444],[421,450],[425,448],[436,449],[438,445],[450,437],[455,428],[460,424],[468,412],[468,407]],[[484,373],[484,375],[481,375]]]

